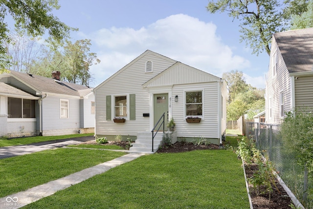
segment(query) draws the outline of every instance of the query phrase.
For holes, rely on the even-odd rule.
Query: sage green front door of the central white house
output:
[[[168,94],[160,93],[154,94],[154,125],[156,125],[157,121],[160,119],[162,114],[164,115],[164,129],[167,130],[166,124],[168,123]],[[159,123],[161,124],[161,122]],[[156,130],[159,127],[159,124],[156,126]],[[161,126],[160,130],[163,131],[163,126]]]

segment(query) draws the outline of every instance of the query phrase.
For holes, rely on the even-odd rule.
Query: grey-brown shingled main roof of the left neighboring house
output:
[[[9,70],[10,73],[3,73],[0,77],[14,77],[26,86],[35,90],[37,94],[54,93],[72,96],[85,96],[91,92],[91,88],[74,83],[57,81],[54,78],[47,78],[39,75],[31,75],[23,72]]]

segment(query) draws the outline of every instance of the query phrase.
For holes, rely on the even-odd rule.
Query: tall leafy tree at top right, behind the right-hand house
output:
[[[240,19],[241,41],[250,45],[252,53],[266,50],[270,54],[270,42],[274,32],[284,30],[286,23],[278,0],[210,0],[210,13],[227,12],[233,19]]]

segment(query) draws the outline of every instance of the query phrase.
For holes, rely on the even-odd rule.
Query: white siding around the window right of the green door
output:
[[[218,132],[218,88],[219,82],[174,85],[172,98],[178,95],[178,102],[172,102],[172,116],[175,120],[177,137],[205,137],[220,139]],[[204,113],[200,123],[187,123],[184,112],[185,92],[203,91]]]

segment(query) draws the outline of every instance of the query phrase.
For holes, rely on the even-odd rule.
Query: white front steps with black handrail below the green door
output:
[[[135,143],[129,148],[132,152],[138,153],[154,153],[158,150],[159,146],[163,143],[163,132],[158,132],[153,140],[152,151],[152,133],[151,132],[138,132]]]

